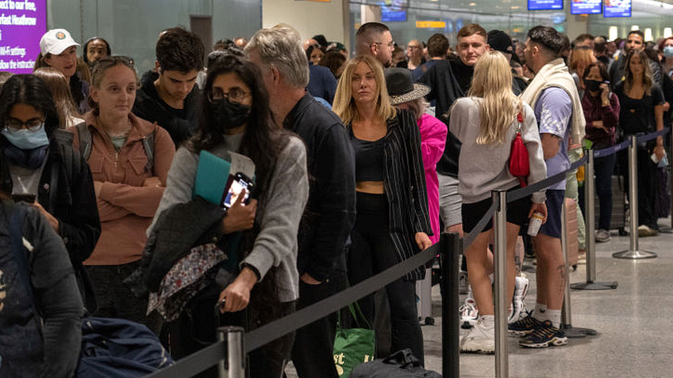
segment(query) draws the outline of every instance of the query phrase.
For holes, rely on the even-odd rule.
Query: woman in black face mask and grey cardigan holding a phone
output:
[[[249,331],[294,312],[299,296],[297,230],[308,200],[303,142],[273,124],[263,77],[250,61],[232,55],[217,59],[208,68],[204,90],[199,132],[175,155],[150,238],[155,228],[162,227],[164,213],[192,202],[201,151],[223,159],[228,159],[230,151],[250,158],[254,187],[245,193],[250,194],[248,204],[236,200],[226,211],[219,204],[211,205],[223,218],[217,218],[214,238],[208,240],[228,255],[213,269],[217,277],[230,276],[232,281],[221,286],[211,282],[208,287],[217,287],[217,291],[203,300],[206,310],[196,315],[185,311],[171,325],[175,340],[171,353],[177,358],[203,348],[196,333],[214,342],[216,325],[210,319],[216,304],[223,314],[219,322]],[[185,221],[184,227],[194,224]],[[232,249],[231,242],[237,239],[241,242]],[[280,377],[292,339],[294,333],[254,350],[248,364],[250,376]]]

